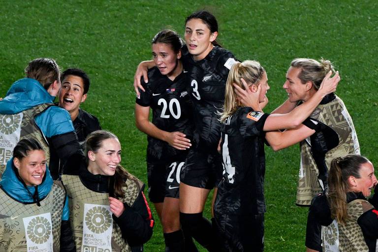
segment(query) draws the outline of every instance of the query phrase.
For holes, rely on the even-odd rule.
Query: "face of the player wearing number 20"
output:
[[[176,69],[181,52],[175,53],[168,44],[156,43],[152,44],[152,56],[160,73],[169,76]]]

